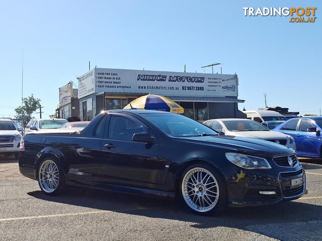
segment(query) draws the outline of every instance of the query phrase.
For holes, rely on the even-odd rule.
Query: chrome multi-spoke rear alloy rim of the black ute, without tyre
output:
[[[59,170],[51,160],[44,161],[39,168],[39,184],[43,191],[51,193],[56,190],[59,183]]]

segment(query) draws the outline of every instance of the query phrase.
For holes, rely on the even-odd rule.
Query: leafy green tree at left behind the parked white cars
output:
[[[31,118],[33,112],[39,108],[40,99],[35,98],[33,94],[31,96],[25,97],[23,100],[23,106],[18,106],[15,108],[17,115],[15,116],[16,119],[22,119],[24,125],[26,125]]]

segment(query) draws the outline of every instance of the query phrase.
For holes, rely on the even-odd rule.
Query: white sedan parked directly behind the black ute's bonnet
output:
[[[296,151],[295,141],[291,136],[273,132],[251,119],[209,119],[203,124],[225,136],[262,139],[284,145]]]

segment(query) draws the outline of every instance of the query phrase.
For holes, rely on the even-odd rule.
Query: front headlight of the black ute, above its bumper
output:
[[[249,169],[272,168],[265,158],[253,157],[240,153],[226,153],[226,158],[238,167]]]

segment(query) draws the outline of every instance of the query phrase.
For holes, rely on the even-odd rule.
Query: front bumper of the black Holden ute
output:
[[[226,180],[229,206],[275,204],[298,199],[305,194],[305,171],[300,164],[279,170],[246,170],[238,167],[234,167],[234,170],[233,176]],[[301,183],[298,183],[299,179]]]

